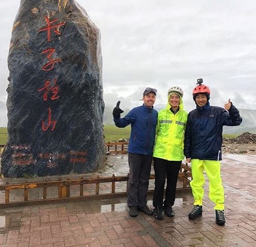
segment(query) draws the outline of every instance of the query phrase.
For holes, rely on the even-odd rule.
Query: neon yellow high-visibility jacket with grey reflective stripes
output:
[[[154,157],[170,161],[184,159],[184,131],[187,115],[188,113],[183,110],[182,99],[176,114],[171,111],[169,102],[167,107],[158,113]]]

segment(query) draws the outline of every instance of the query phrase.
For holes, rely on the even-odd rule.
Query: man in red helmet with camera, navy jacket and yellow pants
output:
[[[224,109],[210,106],[210,89],[202,82],[198,79],[199,85],[193,89],[197,108],[188,114],[185,131],[184,155],[188,163],[191,161],[190,186],[194,197],[194,206],[188,217],[193,220],[202,215],[205,170],[209,179],[209,198],[215,203],[216,223],[224,225],[224,190],[220,176],[222,127],[240,125],[242,118],[230,99]]]

